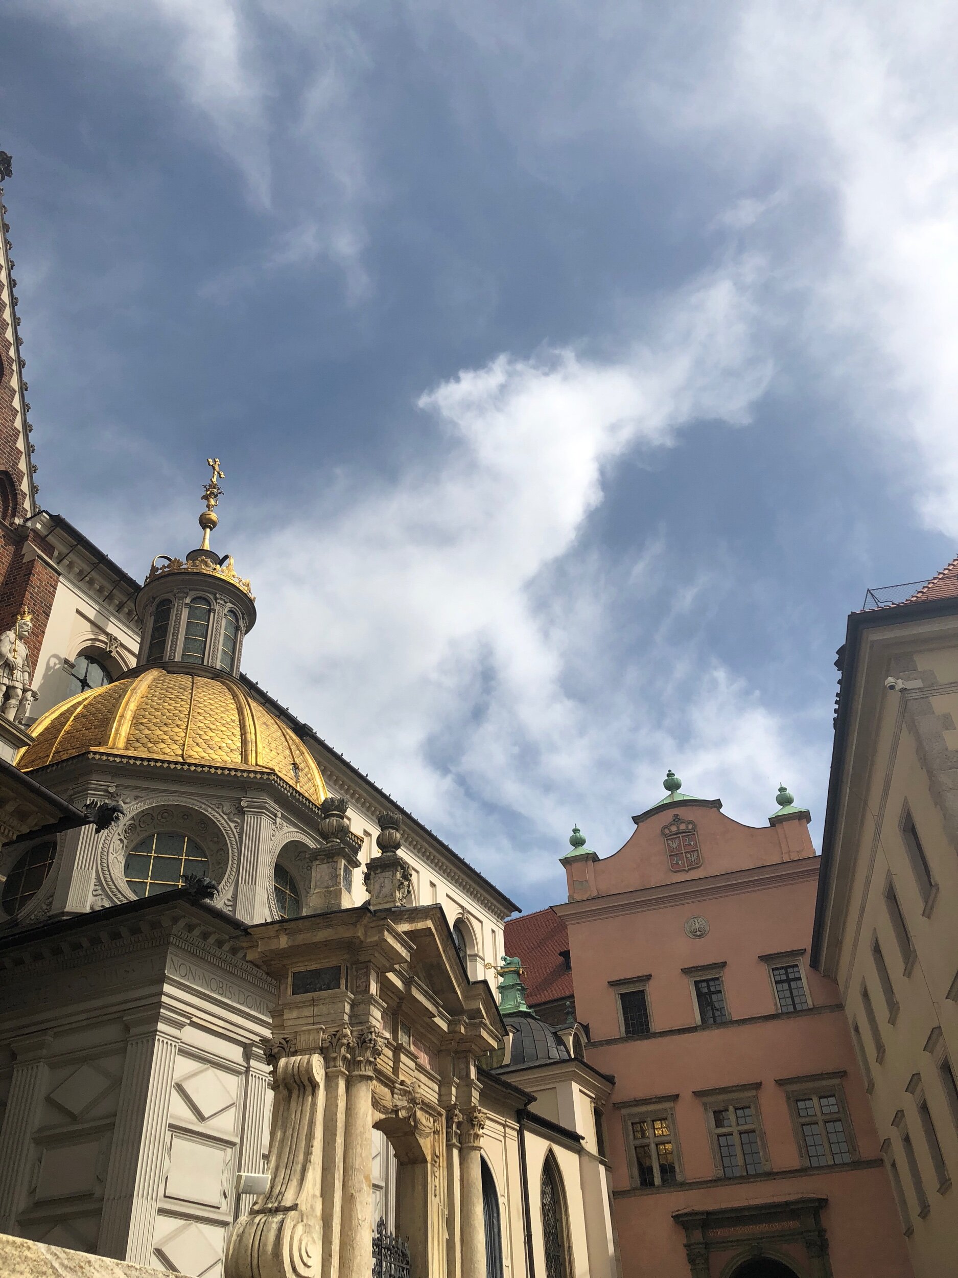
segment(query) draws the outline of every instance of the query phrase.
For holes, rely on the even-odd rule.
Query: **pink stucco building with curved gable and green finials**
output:
[[[680,786],[614,855],[576,831],[554,907],[586,1059],[616,1080],[623,1278],[908,1278],[839,990],[807,964],[809,813],[780,790],[754,828]]]

